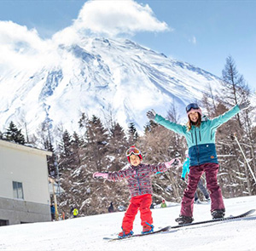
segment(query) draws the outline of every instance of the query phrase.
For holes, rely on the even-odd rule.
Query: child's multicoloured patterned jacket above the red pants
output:
[[[108,180],[119,181],[126,179],[131,197],[136,197],[143,194],[152,194],[153,189],[150,176],[157,172],[166,172],[166,170],[165,163],[158,165],[140,163],[137,167],[130,165],[128,168],[118,172],[108,173]]]

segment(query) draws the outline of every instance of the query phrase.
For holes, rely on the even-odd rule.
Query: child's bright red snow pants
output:
[[[148,224],[153,224],[152,212],[150,210],[150,205],[152,203],[151,194],[144,194],[141,196],[131,197],[129,207],[125,212],[125,217],[123,219],[122,228],[124,231],[131,231],[133,228],[133,221],[137,211],[141,212],[141,224],[147,226]],[[148,224],[146,223],[148,222]]]

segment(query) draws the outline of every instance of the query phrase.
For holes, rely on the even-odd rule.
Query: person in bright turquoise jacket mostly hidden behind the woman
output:
[[[188,150],[186,150],[185,155],[186,155],[186,160],[183,163],[183,173],[182,173],[182,177],[181,177],[182,180],[185,180],[186,174],[189,174],[189,151]],[[208,193],[207,188],[204,186],[201,179],[198,181],[197,188],[199,188],[201,190],[201,192],[203,193],[207,202],[210,202],[211,200],[210,200],[209,193]],[[201,201],[198,197],[197,191],[195,191],[194,199],[195,199],[194,203],[201,203]]]

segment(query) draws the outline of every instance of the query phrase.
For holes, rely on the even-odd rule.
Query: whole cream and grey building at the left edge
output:
[[[0,140],[0,225],[51,220],[47,156]]]

